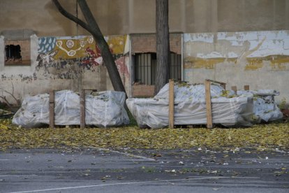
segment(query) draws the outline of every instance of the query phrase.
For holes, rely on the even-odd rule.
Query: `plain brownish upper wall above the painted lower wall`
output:
[[[60,0],[84,20],[76,0]],[[103,34],[154,33],[155,0],[87,0]],[[0,31],[32,29],[37,36],[89,35],[66,19],[50,0],[1,0]],[[171,32],[289,30],[286,0],[170,0]]]

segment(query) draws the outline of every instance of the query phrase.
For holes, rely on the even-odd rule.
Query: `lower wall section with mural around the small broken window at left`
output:
[[[113,90],[103,59],[92,36],[32,35],[31,65],[5,65],[5,37],[0,36],[0,96],[13,92],[17,99],[50,90]],[[130,93],[129,37],[105,36],[121,79]],[[13,86],[12,86],[13,85]],[[13,98],[8,96],[10,103]]]

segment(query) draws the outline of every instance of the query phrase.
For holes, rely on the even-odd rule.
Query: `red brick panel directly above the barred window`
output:
[[[135,53],[156,52],[156,35],[132,35],[131,45],[131,52],[133,55]],[[181,55],[181,34],[170,34],[170,51]]]

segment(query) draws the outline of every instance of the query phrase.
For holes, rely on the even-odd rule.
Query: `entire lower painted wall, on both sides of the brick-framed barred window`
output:
[[[146,38],[147,36],[144,36]],[[121,79],[131,96],[130,36],[106,36]],[[242,89],[279,90],[277,101],[289,101],[289,31],[184,34],[184,80],[206,78]],[[31,65],[5,65],[5,37],[0,36],[0,94],[18,99],[49,90],[112,90],[102,57],[91,36],[30,37]],[[7,94],[6,94],[7,95]],[[13,99],[9,98],[10,102]]]

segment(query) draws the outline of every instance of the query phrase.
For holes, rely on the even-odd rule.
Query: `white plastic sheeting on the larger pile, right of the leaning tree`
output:
[[[168,84],[165,85],[154,98],[126,100],[128,109],[141,128],[162,128],[168,126]],[[262,93],[268,91],[262,90]],[[175,125],[207,124],[204,85],[175,84]],[[269,92],[272,94],[272,92]],[[276,120],[280,118],[264,119],[261,113],[255,113],[266,104],[256,103],[259,100],[253,94],[235,95],[233,91],[223,90],[223,87],[211,85],[212,120],[214,124],[230,126],[250,126],[260,120]],[[262,96],[263,97],[263,96]],[[267,97],[267,96],[266,96]],[[274,101],[273,101],[274,103]],[[274,106],[276,106],[274,104]],[[278,109],[276,112],[278,112]],[[258,111],[259,112],[259,111]],[[280,110],[279,110],[280,112]],[[281,113],[281,112],[280,112]]]

